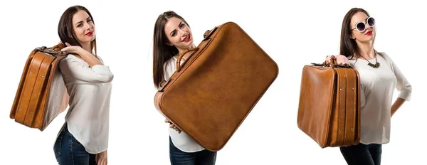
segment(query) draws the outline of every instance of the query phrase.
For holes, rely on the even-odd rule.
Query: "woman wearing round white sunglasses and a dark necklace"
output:
[[[391,116],[410,100],[412,87],[386,53],[374,49],[375,20],[364,9],[350,9],[344,16],[338,64],[359,72],[361,81],[360,143],[339,147],[347,164],[381,164],[381,145],[389,143]],[[331,55],[327,56],[330,62]],[[392,102],[394,90],[399,97]]]

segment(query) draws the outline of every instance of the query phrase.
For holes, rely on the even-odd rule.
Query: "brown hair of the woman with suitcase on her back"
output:
[[[84,6],[70,6],[67,10],[64,11],[62,16],[60,16],[60,20],[58,23],[58,36],[60,38],[60,41],[64,44],[70,43],[71,46],[81,46],[81,44],[77,41],[77,38],[75,37],[74,28],[73,28],[73,16],[78,11],[83,10],[90,16],[90,19],[93,21],[92,14],[90,14],[89,10],[86,9]],[[95,24],[95,21],[93,21]],[[95,49],[95,55],[96,55],[96,38],[90,42],[90,50]],[[92,52],[90,52],[92,53]]]

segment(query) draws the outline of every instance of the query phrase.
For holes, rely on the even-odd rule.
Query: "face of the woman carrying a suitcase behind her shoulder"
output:
[[[75,38],[82,45],[95,39],[95,24],[86,11],[80,10],[74,14],[73,30]]]

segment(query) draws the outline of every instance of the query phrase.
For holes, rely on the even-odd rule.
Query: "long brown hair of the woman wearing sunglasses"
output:
[[[357,43],[354,39],[352,39],[350,36],[352,35],[352,28],[350,26],[350,23],[352,22],[352,17],[354,14],[357,14],[357,12],[363,12],[364,14],[367,14],[369,17],[369,14],[367,11],[361,8],[353,8],[350,9],[347,14],[345,14],[344,19],[342,20],[342,27],[341,27],[341,43],[339,46],[339,54],[345,55],[347,58],[352,59],[354,58],[354,55],[356,55],[355,58],[360,57],[359,54],[359,47],[357,46]],[[376,35],[376,31],[375,31]],[[374,36],[375,41],[375,36]],[[374,43],[372,41],[372,43]],[[376,50],[374,49],[374,52],[376,53]]]

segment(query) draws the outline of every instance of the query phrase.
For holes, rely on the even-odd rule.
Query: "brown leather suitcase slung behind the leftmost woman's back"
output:
[[[15,122],[43,131],[67,107],[68,93],[59,70],[66,55],[61,48],[63,44],[42,46],[28,56],[10,112]]]

